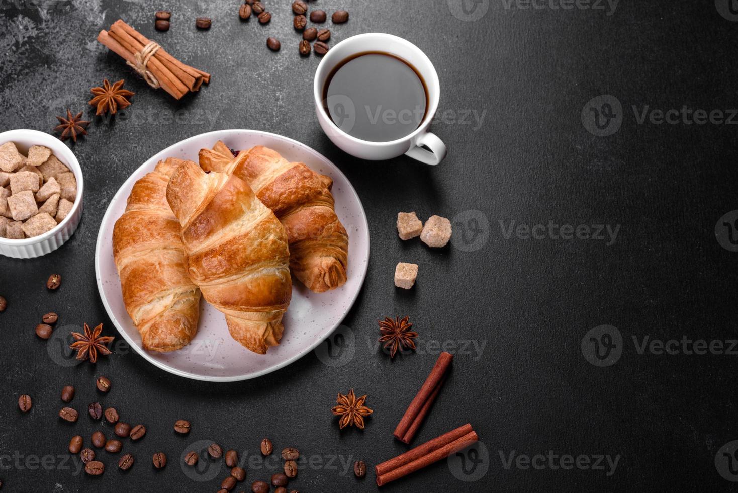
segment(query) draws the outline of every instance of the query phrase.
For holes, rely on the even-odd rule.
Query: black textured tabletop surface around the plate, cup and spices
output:
[[[457,0],[311,2],[329,14],[351,11],[348,24],[331,26],[333,43],[382,31],[427,52],[442,88],[433,131],[449,147],[446,161],[432,168],[404,157],[362,162],[321,133],[311,100],[319,59],[297,55],[287,0],[266,1],[274,15],[268,26],[241,23],[238,1],[73,0],[49,10],[31,0],[0,0],[0,129],[49,131],[67,106],[94,116],[86,101],[103,77],[125,77],[137,93],[128,120],[96,121],[89,137],[72,145],[86,182],[74,237],[43,258],[0,258],[0,294],[9,303],[0,314],[4,489],[215,492],[225,468],[199,483],[177,463],[200,439],[252,456],[269,436],[275,448],[297,447],[324,464],[337,456],[362,458],[371,467],[405,449],[391,432],[435,361],[435,348],[448,341],[459,345],[452,375],[415,443],[469,421],[489,451],[480,465],[486,474],[463,482],[444,461],[384,487],[387,492],[734,489],[714,458],[738,439],[736,356],[640,355],[631,339],[735,337],[738,254],[720,246],[714,228],[738,209],[737,127],[639,124],[632,110],[738,108],[738,23],[720,15],[717,7],[728,0],[721,1],[621,1],[608,15],[610,7],[562,10],[546,3],[526,10],[506,8],[507,0],[480,0],[480,10],[467,10],[484,11],[477,20],[469,20],[474,13],[452,15],[459,12]],[[153,30],[159,8],[173,10],[165,34]],[[195,30],[199,15],[214,18],[209,32]],[[149,89],[94,41],[117,18],[211,72],[210,86],[179,103]],[[281,39],[281,52],[266,49],[268,35]],[[609,137],[590,134],[580,116],[600,94],[612,94],[623,107],[621,128]],[[176,110],[184,111],[186,123],[171,121]],[[215,115],[212,122],[205,110]],[[469,111],[484,115],[479,124],[460,118]],[[103,323],[116,334],[97,294],[93,256],[117,188],[162,148],[221,128],[255,128],[305,142],[356,187],[369,219],[371,261],[362,295],[345,319],[354,334],[353,359],[334,367],[311,353],[268,376],[220,385],[172,376],[125,346],[97,366],[56,364],[33,334],[46,311],[58,311],[60,325]],[[463,234],[471,238],[469,222],[457,221],[455,245],[446,249],[402,243],[394,228],[399,210],[416,210],[421,218],[474,216],[482,231],[471,251],[458,241]],[[610,246],[507,239],[500,221],[620,230]],[[420,264],[413,291],[393,287],[397,261]],[[63,285],[49,293],[44,283],[52,272],[63,276]],[[376,320],[394,314],[409,314],[423,341],[418,354],[390,362],[373,340]],[[590,365],[580,349],[584,334],[602,324],[617,327],[624,340],[621,358],[607,368]],[[464,340],[484,344],[483,351],[461,351]],[[98,374],[113,381],[106,396],[94,390]],[[72,426],[56,417],[59,391],[68,384],[77,386],[73,404],[83,411]],[[339,432],[330,413],[336,393],[350,387],[368,393],[374,410],[363,432]],[[35,401],[27,415],[16,406],[21,393]],[[120,472],[117,456],[106,452],[100,455],[108,470],[100,478],[75,475],[59,458],[45,468],[27,467],[28,458],[63,455],[77,432],[89,441],[96,427],[85,409],[97,399],[148,426],[144,440],[125,441],[124,452],[137,456],[130,472]],[[172,431],[181,417],[193,422],[187,438]],[[170,457],[161,472],[151,466],[157,450]],[[607,469],[506,469],[500,459],[512,451],[549,450],[620,459],[612,475]],[[8,458],[13,455],[19,462]],[[276,470],[247,469],[244,489]],[[373,473],[356,480],[341,467],[314,466],[302,469],[290,489],[376,486]]]

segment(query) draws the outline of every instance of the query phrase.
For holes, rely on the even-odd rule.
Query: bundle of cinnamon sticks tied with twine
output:
[[[150,86],[162,87],[175,99],[210,83],[210,74],[185,65],[120,19],[110,30],[100,31],[97,41],[134,67]]]

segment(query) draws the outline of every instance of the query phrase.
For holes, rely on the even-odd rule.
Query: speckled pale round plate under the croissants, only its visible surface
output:
[[[222,140],[232,149],[266,145],[289,161],[304,162],[318,173],[333,179],[336,213],[348,231],[348,280],[345,285],[325,293],[313,293],[294,280],[292,302],[283,318],[284,334],[280,345],[266,355],[252,353],[235,342],[228,333],[223,314],[201,300],[197,335],[179,351],[159,354],[141,347],[141,336],[125,312],[123,297],[113,261],[112,234],[115,221],[125,210],[125,201],[134,183],[154,170],[160,159],[178,157],[197,162],[201,148],[211,148]],[[190,137],[171,145],[143,163],[115,194],[100,224],[95,249],[97,288],[110,319],[121,335],[154,365],[190,379],[232,382],[270,373],[312,351],[334,331],[354,304],[364,283],[369,263],[369,227],[364,207],[356,190],[332,162],[300,142],[268,132],[221,130]]]

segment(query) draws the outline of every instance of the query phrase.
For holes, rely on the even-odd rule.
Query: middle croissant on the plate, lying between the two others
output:
[[[266,354],[279,344],[292,297],[284,228],[248,183],[191,161],[173,174],[167,201],[182,225],[190,278],[225,314],[231,336]]]

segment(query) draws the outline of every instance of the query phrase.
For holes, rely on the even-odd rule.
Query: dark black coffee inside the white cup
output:
[[[346,58],[328,75],[323,104],[356,139],[390,142],[412,134],[428,111],[428,89],[415,67],[385,52]]]

